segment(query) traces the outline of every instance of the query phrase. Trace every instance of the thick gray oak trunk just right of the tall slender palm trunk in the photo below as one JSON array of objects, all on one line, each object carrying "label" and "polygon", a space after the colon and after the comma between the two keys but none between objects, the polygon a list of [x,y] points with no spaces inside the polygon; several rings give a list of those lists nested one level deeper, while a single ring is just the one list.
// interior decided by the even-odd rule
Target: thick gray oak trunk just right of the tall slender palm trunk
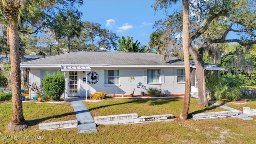
[{"label": "thick gray oak trunk just right of the tall slender palm trunk", "polygon": [[198,90],[198,104],[201,106],[208,106],[208,99],[206,96],[205,87],[205,75],[204,75],[204,60],[202,59],[203,53],[196,52],[192,47],[190,47],[190,53],[196,62],[196,80],[197,80],[197,90]]}]

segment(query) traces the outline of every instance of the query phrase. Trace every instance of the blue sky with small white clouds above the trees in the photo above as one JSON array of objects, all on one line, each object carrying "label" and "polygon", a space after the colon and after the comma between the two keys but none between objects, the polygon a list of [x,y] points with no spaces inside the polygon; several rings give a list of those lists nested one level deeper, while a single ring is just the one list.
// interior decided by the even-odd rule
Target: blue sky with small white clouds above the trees
[{"label": "blue sky with small white clouds above the trees", "polygon": [[[155,0],[84,0],[78,8],[82,13],[82,21],[101,24],[116,33],[119,37],[133,37],[142,45],[148,45],[150,34],[154,32],[152,25],[156,20],[165,17],[163,11],[154,14],[151,5]],[[179,6],[178,4],[176,6]],[[181,5],[180,5],[181,6]]]}]

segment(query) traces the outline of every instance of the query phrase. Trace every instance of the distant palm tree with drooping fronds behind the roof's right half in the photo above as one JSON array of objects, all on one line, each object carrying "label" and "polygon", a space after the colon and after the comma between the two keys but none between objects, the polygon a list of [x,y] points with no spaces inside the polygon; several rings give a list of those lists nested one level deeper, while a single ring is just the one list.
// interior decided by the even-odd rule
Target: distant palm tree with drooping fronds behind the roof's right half
[{"label": "distant palm tree with drooping fronds behind the roof's right half", "polygon": [[160,54],[160,46],[161,46],[160,38],[161,38],[161,35],[162,35],[162,32],[160,32],[160,31],[153,32],[150,35],[150,41],[149,41],[149,44],[148,44],[148,46],[150,46],[151,48],[156,49],[157,54]]}]

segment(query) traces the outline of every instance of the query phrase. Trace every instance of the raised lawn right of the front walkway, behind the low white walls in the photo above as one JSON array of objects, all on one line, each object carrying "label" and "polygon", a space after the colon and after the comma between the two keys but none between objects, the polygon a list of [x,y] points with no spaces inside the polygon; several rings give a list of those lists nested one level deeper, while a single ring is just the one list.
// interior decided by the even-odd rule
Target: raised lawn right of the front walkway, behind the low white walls
[{"label": "raised lawn right of the front walkway, behind the low white walls", "polygon": [[[198,100],[191,98],[189,114],[202,112],[224,111],[218,106],[210,105],[208,108],[198,106]],[[173,114],[179,117],[182,108],[183,98],[164,99],[135,99],[135,98],[114,98],[101,102],[84,102],[86,108],[94,117],[115,114],[137,113],[138,116],[150,116],[158,114]]]}]

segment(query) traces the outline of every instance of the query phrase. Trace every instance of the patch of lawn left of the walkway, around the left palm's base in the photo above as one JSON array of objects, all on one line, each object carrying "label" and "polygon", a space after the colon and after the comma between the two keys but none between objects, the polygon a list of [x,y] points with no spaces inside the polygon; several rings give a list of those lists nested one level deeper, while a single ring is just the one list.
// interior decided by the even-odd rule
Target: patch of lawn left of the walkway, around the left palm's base
[{"label": "patch of lawn left of the walkway, around the left palm's base", "polygon": [[[23,115],[33,129],[38,129],[39,123],[76,120],[76,114],[70,102],[63,104],[48,104],[24,102]],[[12,103],[0,102],[0,131],[10,123],[12,116]]]}]

